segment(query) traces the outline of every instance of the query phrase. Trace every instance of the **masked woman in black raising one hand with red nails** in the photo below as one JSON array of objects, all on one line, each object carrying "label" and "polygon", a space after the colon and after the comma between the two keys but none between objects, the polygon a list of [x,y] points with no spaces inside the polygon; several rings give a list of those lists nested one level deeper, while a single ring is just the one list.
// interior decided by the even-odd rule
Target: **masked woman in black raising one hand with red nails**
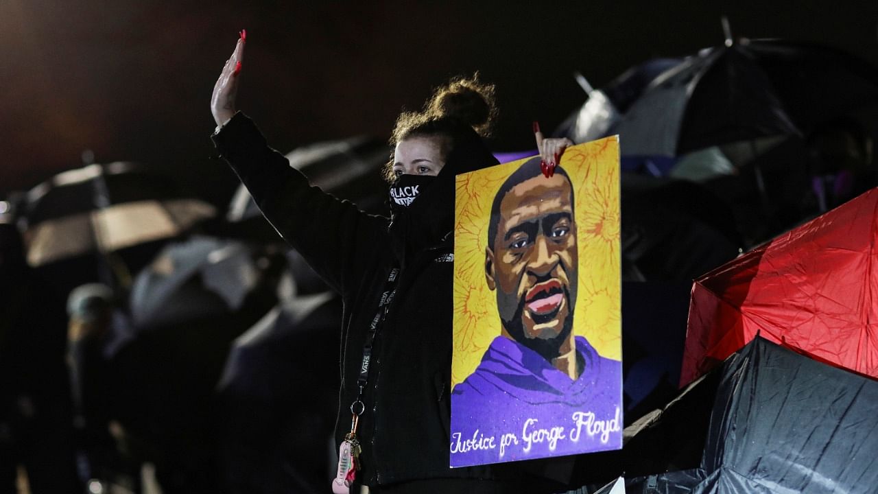
[{"label": "masked woman in black raising one hand with red nails", "polygon": [[[242,32],[213,89],[213,139],[280,235],[342,294],[335,490],[346,473],[372,492],[558,490],[520,465],[448,466],[454,177],[497,163],[477,132],[493,117],[493,88],[453,81],[399,116],[388,223],[311,187],[235,113],[244,44]],[[547,164],[568,143],[545,140]]]}]

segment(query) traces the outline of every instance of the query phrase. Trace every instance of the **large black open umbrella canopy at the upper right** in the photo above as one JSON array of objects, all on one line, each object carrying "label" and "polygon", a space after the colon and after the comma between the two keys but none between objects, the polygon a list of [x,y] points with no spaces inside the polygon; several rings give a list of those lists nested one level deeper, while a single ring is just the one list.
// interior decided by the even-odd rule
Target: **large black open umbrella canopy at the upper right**
[{"label": "large black open umbrella canopy at the upper right", "polygon": [[878,70],[831,47],[740,40],[661,73],[609,129],[625,155],[680,156],[778,135],[878,101]]}]

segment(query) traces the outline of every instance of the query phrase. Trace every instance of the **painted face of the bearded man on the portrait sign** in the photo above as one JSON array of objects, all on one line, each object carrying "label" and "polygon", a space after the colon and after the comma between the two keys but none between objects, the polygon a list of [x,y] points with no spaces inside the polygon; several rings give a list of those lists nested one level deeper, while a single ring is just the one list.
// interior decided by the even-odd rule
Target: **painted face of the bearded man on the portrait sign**
[{"label": "painted face of the bearded man on the portrait sign", "polygon": [[[493,219],[492,219],[493,221]],[[578,255],[572,185],[562,174],[515,185],[500,202],[488,287],[507,333],[547,358],[572,331]]]}]

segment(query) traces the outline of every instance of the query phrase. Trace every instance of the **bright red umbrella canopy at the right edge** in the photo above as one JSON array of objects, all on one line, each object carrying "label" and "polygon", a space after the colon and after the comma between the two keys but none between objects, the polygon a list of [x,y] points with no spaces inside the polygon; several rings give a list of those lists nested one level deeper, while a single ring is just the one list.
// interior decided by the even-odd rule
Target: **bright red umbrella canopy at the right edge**
[{"label": "bright red umbrella canopy at the right edge", "polygon": [[680,384],[757,334],[878,377],[878,188],[695,280]]}]

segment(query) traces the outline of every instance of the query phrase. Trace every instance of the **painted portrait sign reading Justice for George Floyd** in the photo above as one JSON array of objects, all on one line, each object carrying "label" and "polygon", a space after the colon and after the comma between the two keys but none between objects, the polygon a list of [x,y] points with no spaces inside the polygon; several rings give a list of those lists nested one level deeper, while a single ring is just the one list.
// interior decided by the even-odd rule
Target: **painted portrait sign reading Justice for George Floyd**
[{"label": "painted portrait sign reading Justice for George Floyd", "polygon": [[619,141],[457,176],[450,466],[622,447]]}]

